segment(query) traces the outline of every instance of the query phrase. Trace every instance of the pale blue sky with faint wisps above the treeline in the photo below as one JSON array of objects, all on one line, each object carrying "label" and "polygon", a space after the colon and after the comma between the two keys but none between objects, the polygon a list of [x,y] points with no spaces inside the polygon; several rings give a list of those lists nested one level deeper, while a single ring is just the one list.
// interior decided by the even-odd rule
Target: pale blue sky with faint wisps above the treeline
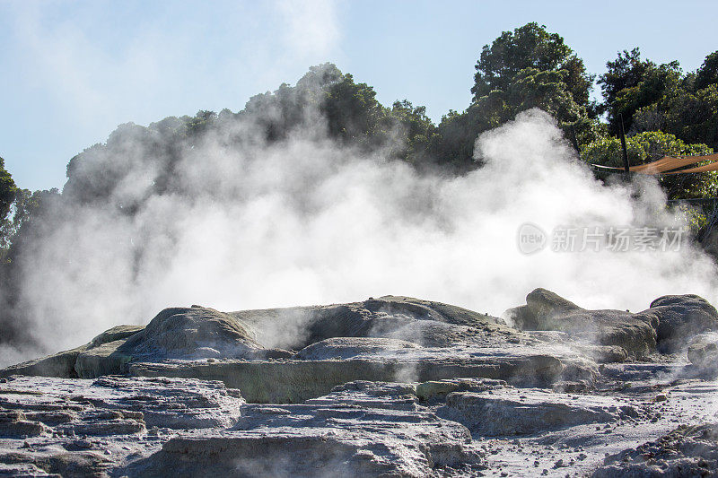
[{"label": "pale blue sky with faint wisps above the treeline", "polygon": [[67,161],[118,124],[236,111],[326,61],[439,120],[468,106],[481,48],[526,22],[592,73],[636,46],[695,70],[718,49],[716,16],[714,0],[0,0],[0,156],[19,186],[62,187]]}]

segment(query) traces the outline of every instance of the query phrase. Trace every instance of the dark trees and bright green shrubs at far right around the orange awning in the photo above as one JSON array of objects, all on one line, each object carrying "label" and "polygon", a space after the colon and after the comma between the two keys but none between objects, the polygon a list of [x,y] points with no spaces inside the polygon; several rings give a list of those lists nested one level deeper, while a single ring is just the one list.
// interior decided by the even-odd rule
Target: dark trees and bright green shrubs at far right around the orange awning
[{"label": "dark trees and bright green shrubs at far right around the orange awning", "polygon": [[[618,53],[606,67],[598,83],[604,99],[601,109],[613,136],[584,144],[584,161],[621,166],[621,122],[632,165],[663,155],[704,155],[718,148],[718,52],[706,56],[696,72],[684,73],[678,62],[657,65],[643,59],[638,48]],[[671,198],[718,196],[714,172],[659,179]]]}]

